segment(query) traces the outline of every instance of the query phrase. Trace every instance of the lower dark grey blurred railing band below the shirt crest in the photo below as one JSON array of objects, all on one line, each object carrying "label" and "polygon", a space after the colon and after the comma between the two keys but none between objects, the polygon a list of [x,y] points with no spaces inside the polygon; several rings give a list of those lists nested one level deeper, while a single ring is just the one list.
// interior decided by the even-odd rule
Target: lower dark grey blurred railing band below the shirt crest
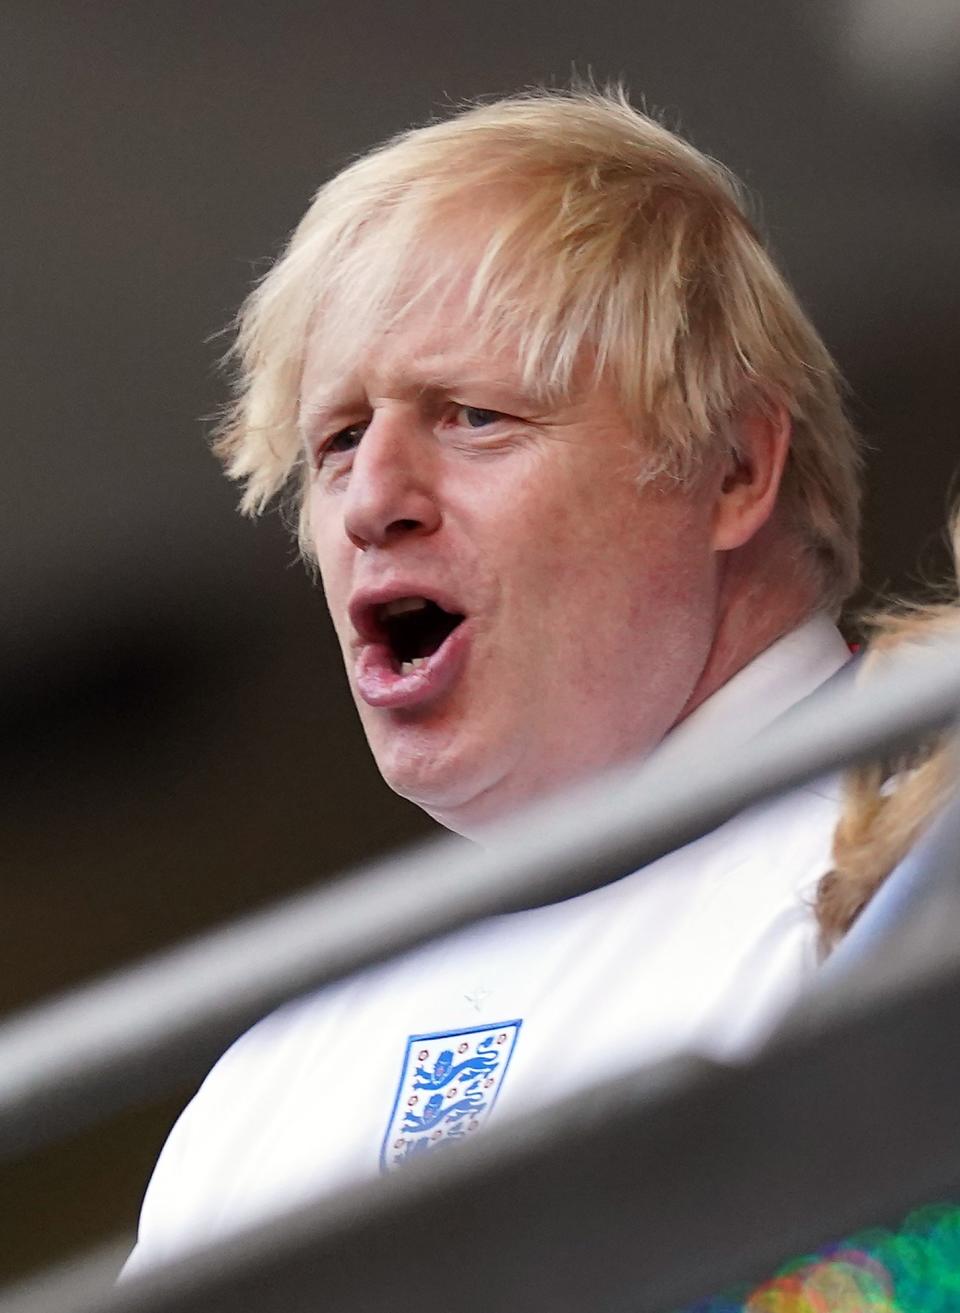
[{"label": "lower dark grey blurred railing band below the shirt crest", "polygon": [[746,1066],[666,1062],[100,1297],[47,1288],[4,1313],[670,1313],[960,1200],[946,911],[932,943],[810,998]]}]

